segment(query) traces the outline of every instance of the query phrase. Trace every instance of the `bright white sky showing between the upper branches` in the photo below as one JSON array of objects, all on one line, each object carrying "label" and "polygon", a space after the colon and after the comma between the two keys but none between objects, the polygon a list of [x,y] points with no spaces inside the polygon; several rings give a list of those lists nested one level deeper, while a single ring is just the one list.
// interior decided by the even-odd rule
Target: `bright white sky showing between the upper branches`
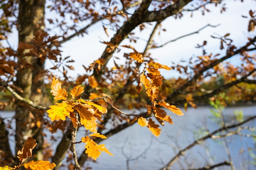
[{"label": "bright white sky showing between the upper branches", "polygon": [[[175,42],[172,42],[163,48],[153,49],[150,51],[151,57],[157,59],[157,62],[160,64],[165,64],[168,66],[172,65],[172,62],[179,62],[180,60],[188,60],[192,56],[202,55],[202,49],[196,49],[195,46],[197,44],[202,44],[204,40],[207,40],[207,46],[205,47],[208,53],[225,53],[225,50],[220,51],[220,41],[211,38],[211,35],[214,33],[218,33],[219,35],[225,35],[226,33],[230,33],[229,38],[234,40],[234,44],[236,46],[243,46],[246,42],[246,37],[249,36],[247,31],[247,26],[249,19],[242,18],[241,15],[249,16],[249,9],[255,11],[256,9],[256,1],[255,0],[245,0],[245,2],[240,2],[238,0],[226,0],[227,3],[227,11],[224,13],[220,13],[219,7],[213,7],[213,5],[209,5],[209,9],[211,12],[205,13],[202,15],[200,11],[194,12],[193,17],[190,17],[191,13],[187,13],[184,15],[182,19],[175,20],[173,17],[168,18],[162,23],[162,29],[166,29],[166,32],[161,32],[160,35],[156,35],[155,42],[162,44],[169,40],[173,40],[179,36],[182,36],[187,33],[191,33],[197,31],[207,24],[220,26],[216,28],[207,27],[204,30],[200,31],[199,34],[194,34],[186,38],[182,38]],[[190,6],[188,6],[190,7]],[[154,25],[154,24],[153,24]],[[139,32],[137,29],[135,32]],[[88,34],[85,34],[84,37],[76,37],[72,40],[63,43],[61,50],[63,51],[63,58],[66,56],[71,56],[74,59],[75,63],[70,63],[75,67],[75,71],[69,71],[68,75],[72,77],[76,77],[77,74],[85,73],[85,70],[82,66],[88,66],[94,60],[97,60],[104,49],[106,48],[106,44],[101,43],[102,41],[108,42],[111,38],[111,35],[114,34],[113,31],[108,30],[110,33],[110,37],[107,37],[103,31],[103,27],[101,23],[98,23],[92,26],[88,30]],[[146,31],[139,33],[141,40],[138,40],[136,44],[132,44],[135,49],[139,52],[144,51],[144,47],[146,42],[144,40],[148,39],[150,34],[150,29],[146,29]],[[256,31],[251,33],[251,35],[255,35]],[[14,33],[14,35],[17,35]],[[138,36],[135,35],[135,36]],[[101,41],[101,42],[100,42]],[[9,39],[9,42],[12,46],[17,46],[17,39],[13,38]],[[128,41],[122,42],[121,45],[128,44]],[[120,48],[120,53],[115,53],[114,56],[119,57],[121,60],[115,60],[119,64],[124,63],[123,55],[125,53],[132,52],[131,50]],[[46,68],[51,68],[53,65],[50,62],[46,62]],[[113,66],[112,63],[109,66]],[[177,77],[178,74],[173,71],[162,71],[164,77],[171,78]],[[56,73],[59,75],[58,73]]]}]

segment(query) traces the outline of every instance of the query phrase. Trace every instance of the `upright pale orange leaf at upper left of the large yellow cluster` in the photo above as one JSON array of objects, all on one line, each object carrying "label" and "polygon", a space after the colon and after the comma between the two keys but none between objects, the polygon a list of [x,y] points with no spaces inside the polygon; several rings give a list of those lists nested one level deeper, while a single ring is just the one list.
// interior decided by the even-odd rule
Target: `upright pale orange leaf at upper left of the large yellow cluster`
[{"label": "upright pale orange leaf at upper left of the large yellow cluster", "polygon": [[55,100],[67,99],[67,91],[61,88],[61,83],[58,82],[58,79],[55,79],[54,77],[52,79],[51,88],[52,90],[50,92],[55,96]]}]

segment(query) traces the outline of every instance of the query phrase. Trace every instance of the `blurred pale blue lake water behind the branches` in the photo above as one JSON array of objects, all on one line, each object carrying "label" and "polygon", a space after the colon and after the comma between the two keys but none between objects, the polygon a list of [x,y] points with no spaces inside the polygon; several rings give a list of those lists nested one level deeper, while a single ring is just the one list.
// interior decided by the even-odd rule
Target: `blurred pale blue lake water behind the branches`
[{"label": "blurred pale blue lake water behind the branches", "polygon": [[[256,105],[227,107],[223,111],[227,123],[236,122],[235,110],[242,110],[244,119],[256,115]],[[132,111],[134,110],[124,110],[126,113],[132,113]],[[184,112],[184,110],[182,111]],[[141,127],[136,123],[102,142],[115,155],[114,157],[103,152],[97,162],[89,162],[85,165],[92,167],[92,170],[128,170],[127,167],[129,167],[129,170],[158,170],[178,153],[179,149],[191,144],[197,135],[202,133],[199,129],[205,127],[212,132],[219,128],[218,124],[210,118],[209,106],[199,106],[197,109],[188,108],[182,117],[168,110],[166,112],[173,119],[174,125],[165,123],[165,126],[160,126],[159,128],[162,131],[159,137],[153,136],[148,128]],[[1,117],[11,118],[14,113],[0,111],[0,115]],[[246,126],[251,127],[255,125],[256,119],[246,124]],[[248,130],[242,130],[242,132],[249,133]],[[48,134],[50,135],[50,133]],[[77,141],[84,134],[85,130],[80,130]],[[54,136],[57,135],[58,133]],[[10,140],[12,146],[13,140],[13,138]],[[248,148],[251,148],[256,154],[256,141],[253,141],[250,137],[233,135],[227,137],[227,142],[236,170],[256,169],[256,166],[249,163],[253,159],[248,153]],[[56,146],[56,144],[54,142],[53,146]],[[84,149],[84,144],[77,144],[76,149],[81,153]],[[184,157],[180,157],[174,163],[171,169],[201,168],[207,165],[206,162],[216,164],[225,160],[229,161],[223,141],[221,139],[215,141],[207,139],[202,144],[188,150]],[[217,169],[228,170],[230,168],[229,166],[222,166]]]}]

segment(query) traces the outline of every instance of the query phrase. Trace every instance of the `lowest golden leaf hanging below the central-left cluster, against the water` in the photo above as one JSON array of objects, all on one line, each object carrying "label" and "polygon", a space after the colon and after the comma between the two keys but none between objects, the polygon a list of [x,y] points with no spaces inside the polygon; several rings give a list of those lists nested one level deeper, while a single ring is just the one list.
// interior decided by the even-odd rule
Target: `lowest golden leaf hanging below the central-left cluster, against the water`
[{"label": "lowest golden leaf hanging below the central-left cluster, against the water", "polygon": [[101,152],[106,152],[109,155],[114,156],[111,152],[108,151],[107,148],[105,148],[105,145],[98,145],[88,136],[82,137],[81,140],[83,141],[83,143],[85,143],[85,153],[88,154],[88,157],[91,157],[94,160],[96,160],[99,157],[99,155],[101,155]]}]

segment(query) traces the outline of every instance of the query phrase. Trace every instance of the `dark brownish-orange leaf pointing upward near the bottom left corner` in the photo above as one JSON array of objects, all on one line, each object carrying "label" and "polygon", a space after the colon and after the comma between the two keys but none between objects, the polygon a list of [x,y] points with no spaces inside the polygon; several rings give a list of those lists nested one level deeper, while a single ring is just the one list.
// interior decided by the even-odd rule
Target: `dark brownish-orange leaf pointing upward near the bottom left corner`
[{"label": "dark brownish-orange leaf pointing upward near the bottom left corner", "polygon": [[33,137],[28,137],[27,141],[24,143],[24,147],[22,150],[18,151],[18,159],[20,160],[21,163],[23,163],[27,157],[32,156],[32,149],[35,148],[36,146],[36,139],[33,139]]}]

